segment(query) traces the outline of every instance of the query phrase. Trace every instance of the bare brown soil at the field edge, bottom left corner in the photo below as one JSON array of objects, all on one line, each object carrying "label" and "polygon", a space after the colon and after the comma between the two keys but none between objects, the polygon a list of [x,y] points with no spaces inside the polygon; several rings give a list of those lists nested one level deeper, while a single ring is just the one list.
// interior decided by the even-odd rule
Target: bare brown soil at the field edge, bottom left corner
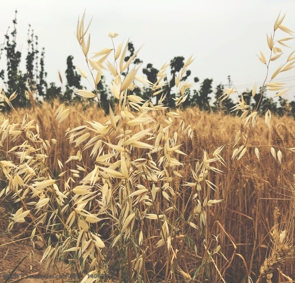
[{"label": "bare brown soil at the field edge, bottom left corner", "polygon": [[[10,206],[10,207],[9,207]],[[41,275],[59,275],[58,271],[45,271],[45,263],[39,262],[42,259],[45,249],[42,246],[35,245],[35,249],[30,245],[30,234],[32,229],[27,223],[16,223],[13,229],[7,233],[6,229],[10,222],[9,217],[11,213],[15,213],[17,209],[12,210],[6,199],[0,198],[0,282],[21,282],[21,283],[39,283],[62,282],[61,279],[55,278],[27,278],[27,275],[41,276]],[[33,251],[34,257],[30,259],[30,253]],[[23,260],[23,261],[22,261]],[[65,275],[64,282],[80,282],[71,279],[70,267],[66,268],[66,264],[57,264],[61,275]],[[14,270],[15,269],[15,270]],[[12,278],[9,278],[9,273],[12,273]],[[21,275],[23,274],[23,276]],[[81,274],[83,278],[85,274]],[[17,278],[18,277],[18,278]],[[22,278],[21,278],[22,277]],[[73,276],[72,276],[73,277]],[[76,275],[77,277],[77,275]],[[7,280],[8,279],[8,280]],[[7,280],[7,281],[6,281]]]}]

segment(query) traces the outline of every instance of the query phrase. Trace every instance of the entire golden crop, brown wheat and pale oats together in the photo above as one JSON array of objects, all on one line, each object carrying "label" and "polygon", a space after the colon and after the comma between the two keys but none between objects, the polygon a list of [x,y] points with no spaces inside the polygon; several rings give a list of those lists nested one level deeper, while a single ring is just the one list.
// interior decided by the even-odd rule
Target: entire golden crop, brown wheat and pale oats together
[{"label": "entire golden crop, brown wheat and pale oats together", "polygon": [[[84,17],[76,36],[88,60]],[[288,32],[282,21],[274,31]],[[242,95],[236,116],[184,110],[191,86],[181,79],[192,57],[175,78],[176,109],[145,102],[129,95],[134,81],[158,92],[169,64],[155,83],[136,68],[122,81],[134,59],[124,62],[126,48],[122,42],[89,60],[97,85],[114,54],[107,68],[117,104],[109,115],[58,100],[39,107],[30,92],[31,109],[0,117],[0,195],[13,211],[5,236],[38,245],[47,273],[81,275],[55,282],[294,282],[294,119],[251,111]],[[288,60],[266,84],[279,93],[272,80],[295,57]]]}]

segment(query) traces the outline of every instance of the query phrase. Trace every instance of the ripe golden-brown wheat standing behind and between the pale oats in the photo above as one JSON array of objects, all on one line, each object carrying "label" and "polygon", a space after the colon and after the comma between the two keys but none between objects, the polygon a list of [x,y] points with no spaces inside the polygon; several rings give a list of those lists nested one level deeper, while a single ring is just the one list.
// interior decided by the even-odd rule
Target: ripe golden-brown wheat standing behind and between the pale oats
[{"label": "ripe golden-brown wheat standing behind and between the pale oats", "polygon": [[[48,157],[46,159],[43,158],[44,162],[45,160],[46,162],[43,164],[41,158],[39,161],[43,164],[42,170],[45,171],[46,168],[46,171],[51,172],[53,176],[60,175],[56,177],[58,180],[56,183],[60,188],[60,192],[63,192],[63,194],[68,196],[71,196],[71,194],[74,196],[73,189],[75,187],[77,188],[78,184],[83,183],[83,179],[85,180],[85,177],[87,176],[87,171],[82,171],[80,168],[85,166],[87,170],[91,172],[91,170],[94,170],[95,168],[95,158],[90,157],[90,148],[84,151],[85,158],[81,160],[70,160],[66,163],[69,160],[69,156],[78,156],[78,151],[81,150],[82,152],[83,146],[85,146],[85,142],[84,145],[80,145],[80,147],[75,147],[75,143],[69,146],[68,136],[65,135],[66,131],[82,125],[85,120],[94,120],[100,123],[105,123],[107,122],[106,120],[109,120],[109,117],[101,115],[98,108],[92,108],[86,113],[83,113],[78,107],[76,111],[71,109],[71,112],[64,123],[58,124],[57,121],[52,119],[58,106],[58,102],[55,102],[53,108],[49,104],[45,104],[42,109],[36,107],[35,113],[28,115],[27,120],[30,121],[35,119],[35,122],[32,123],[32,125],[36,125],[36,123],[39,125],[39,139],[47,137],[48,141],[50,141],[48,142],[50,146],[47,145],[46,151]],[[25,111],[18,112],[18,115],[19,117],[23,117],[26,113]],[[19,119],[18,115],[11,115],[9,119],[15,124],[21,124],[22,119]],[[156,125],[160,121],[163,121],[164,117],[164,113],[158,113],[158,115],[155,115],[153,119],[155,120]],[[288,150],[282,151],[282,164],[278,164],[278,161],[271,155],[270,146],[267,145],[270,144],[274,147],[280,146],[283,148],[291,148],[295,140],[293,135],[295,122],[290,118],[274,118],[272,132],[270,133],[268,128],[265,127],[264,119],[258,118],[256,130],[254,130],[252,135],[253,138],[249,140],[249,151],[237,167],[237,172],[232,185],[228,187],[237,166],[237,162],[232,160],[232,148],[234,145],[234,138],[232,137],[239,129],[244,130],[244,123],[239,120],[239,117],[229,117],[221,114],[206,114],[198,111],[198,109],[188,109],[181,113],[181,117],[185,123],[191,121],[193,137],[192,139],[185,137],[179,137],[178,139],[178,144],[181,145],[179,150],[185,152],[187,156],[180,156],[179,154],[176,157],[180,162],[183,162],[186,165],[178,170],[178,173],[183,176],[183,178],[176,175],[178,178],[173,180],[171,186],[171,189],[176,193],[173,200],[173,206],[176,208],[176,211],[178,211],[177,218],[179,218],[176,219],[177,221],[175,220],[177,223],[176,225],[179,228],[176,231],[173,231],[171,242],[173,243],[173,241],[175,241],[175,249],[178,249],[178,252],[181,251],[182,245],[186,243],[182,248],[182,255],[179,258],[177,265],[179,268],[179,271],[176,270],[177,281],[185,282],[186,276],[187,278],[191,276],[190,274],[192,270],[200,265],[200,262],[202,261],[202,253],[204,253],[204,248],[207,247],[208,244],[210,244],[209,251],[214,251],[214,249],[220,245],[220,247],[222,247],[222,254],[224,255],[223,257],[219,254],[213,254],[212,260],[204,265],[203,272],[207,273],[208,276],[210,275],[208,278],[209,281],[212,280],[212,282],[214,282],[216,278],[219,277],[219,273],[223,273],[223,270],[225,270],[227,264],[229,264],[231,260],[232,263],[224,274],[224,280],[226,282],[232,282],[236,279],[241,280],[246,277],[251,262],[252,272],[254,274],[259,274],[261,263],[263,263],[266,256],[272,251],[271,233],[276,231],[275,229],[283,229],[280,227],[284,227],[285,229],[285,225],[292,228],[290,223],[293,221],[292,219],[286,219],[286,217],[291,215],[292,203],[294,203],[294,176],[291,173],[294,172],[295,169],[294,153]],[[179,119],[180,118],[178,118],[178,120]],[[173,131],[176,131],[178,128],[177,120],[174,127],[175,129],[173,129]],[[23,136],[23,138],[25,137]],[[91,136],[89,138],[91,138]],[[107,141],[113,142],[112,138],[116,138],[116,134],[108,136]],[[52,139],[55,139],[56,141],[52,142]],[[11,144],[12,143],[8,141],[3,144],[6,152],[11,149]],[[22,143],[19,144],[21,145]],[[251,148],[250,146],[251,144],[261,148],[260,160],[257,159],[254,153],[254,148]],[[214,171],[208,173],[208,180],[211,180],[211,182],[219,187],[219,189],[215,188],[214,191],[210,188],[210,184],[208,185],[205,183],[202,184],[201,191],[198,195],[201,203],[200,209],[203,211],[203,203],[206,200],[224,199],[223,205],[220,206],[219,203],[210,206],[206,211],[206,226],[203,224],[201,227],[195,229],[194,226],[191,227],[186,224],[184,219],[189,219],[190,215],[192,215],[196,209],[194,195],[198,191],[196,187],[188,188],[183,185],[185,185],[186,182],[194,182],[191,169],[195,168],[197,162],[202,162],[204,158],[204,150],[206,150],[209,157],[216,148],[223,145],[225,146],[222,150],[222,158],[224,159],[224,164],[226,166],[218,161],[214,161],[211,166],[216,166],[217,169],[224,173],[219,174]],[[105,152],[105,155],[106,154],[110,153]],[[138,150],[137,154],[138,158],[143,158],[144,150]],[[15,164],[19,163],[19,157],[15,154],[8,153],[8,155],[11,162]],[[153,159],[157,160],[157,158],[158,157],[155,156]],[[4,156],[2,156],[2,159],[4,159]],[[106,159],[109,159],[109,156],[106,156]],[[103,164],[104,161],[101,162]],[[65,166],[71,168],[72,171],[60,168],[60,163],[65,164]],[[33,166],[32,169],[36,171],[37,167],[35,168]],[[65,173],[61,174],[64,171]],[[32,180],[34,180],[34,177]],[[165,185],[165,181],[161,182]],[[146,186],[144,182],[136,183],[136,185],[140,186],[140,189]],[[119,188],[120,187],[117,187],[118,191],[113,192],[111,198],[114,198],[114,200],[120,197],[120,193],[124,195],[124,192],[120,192]],[[138,191],[138,188],[135,188],[133,193],[136,191]],[[30,192],[30,194],[31,193],[32,192]],[[50,202],[48,202],[47,205],[54,205],[54,203],[51,203],[53,197],[56,198],[56,201],[58,200],[58,196],[54,196],[53,193],[54,192],[49,189],[46,191],[44,189],[42,190],[44,196],[50,196]],[[84,197],[86,195],[87,198],[92,198],[91,193],[89,194],[90,196],[81,192],[81,195],[77,194],[77,196],[81,198],[81,196]],[[83,209],[89,212],[91,211],[96,215],[99,212],[98,204],[102,201],[101,195],[102,188],[96,191],[95,198],[92,198],[94,201],[90,204],[88,203]],[[148,202],[148,199],[145,199],[145,195],[142,195],[142,193],[134,195],[135,203],[138,204],[142,202],[142,204],[138,205],[140,214],[148,214],[149,205],[144,204],[144,202]],[[123,196],[121,195],[121,197],[123,201]],[[33,200],[38,201],[37,196],[34,196],[34,198],[31,199],[31,196],[29,195],[27,198],[28,200],[24,198],[24,203],[29,202],[29,199],[30,202]],[[140,201],[141,198],[142,201]],[[173,219],[174,211],[169,209],[169,207],[171,207],[171,201],[171,199],[166,199],[162,194],[158,194],[157,198],[155,198],[157,209],[165,212],[165,216],[168,219]],[[70,207],[71,203],[68,204],[68,207]],[[34,204],[30,204],[30,206],[32,205]],[[56,209],[59,208],[58,202],[55,206]],[[214,220],[217,217],[220,207],[221,212],[218,218],[218,225],[212,230]],[[115,208],[116,205],[114,205],[113,209]],[[109,268],[112,272],[118,272],[115,263],[116,257],[112,258],[112,255],[116,255],[120,252],[115,248],[109,248],[112,242],[112,237],[116,235],[115,227],[112,226],[114,225],[113,222],[118,220],[115,219],[116,216],[119,217],[122,214],[122,208],[120,209],[120,207],[117,206],[116,209],[117,214],[114,215],[113,219],[110,218],[107,221],[99,221],[94,226],[94,229],[97,229],[98,234],[101,235],[101,240],[104,241],[106,247],[108,247],[108,256],[106,256],[106,259],[109,261]],[[146,209],[148,210],[146,211]],[[59,221],[63,220],[64,223],[67,222],[68,216],[70,215],[70,209],[68,210],[69,211],[64,210],[64,212],[60,214],[59,218],[61,219]],[[40,215],[44,217],[44,211],[39,211]],[[45,211],[47,211],[47,209]],[[51,215],[48,215],[47,217],[49,218],[50,216]],[[107,216],[108,214],[103,212],[100,217],[106,218]],[[175,217],[176,216],[174,216],[174,218]],[[198,213],[196,213],[196,215],[190,220],[190,223],[195,223],[196,226],[199,226],[197,224],[199,222]],[[276,221],[280,224],[278,228],[275,226]],[[287,224],[288,221],[289,224]],[[55,222],[58,221],[55,220]],[[51,224],[54,224],[55,222],[52,221]],[[163,268],[163,261],[165,261],[165,251],[163,251],[163,246],[160,246],[157,249],[154,248],[161,239],[160,235],[157,236],[157,234],[159,234],[159,226],[155,223],[154,219],[149,218],[138,219],[136,222],[137,229],[135,230],[142,231],[142,244],[138,246],[138,249],[146,250],[145,270],[147,276],[151,279],[154,277],[154,280],[155,278],[164,278],[165,269]],[[46,223],[48,224],[49,222],[44,221],[43,225],[45,227]],[[92,225],[94,224],[91,224],[90,226]],[[173,229],[169,226],[168,228]],[[217,239],[213,239],[212,241],[212,238],[208,235],[209,232],[207,229],[209,229],[209,231],[215,236],[218,236]],[[63,235],[63,230],[56,229],[56,231],[50,234],[50,236],[54,236],[55,233],[60,236],[62,235],[62,238],[60,239],[62,242],[66,240],[65,235]],[[293,233],[294,228],[290,230],[290,239],[293,239]],[[139,237],[138,231],[136,236],[137,238]],[[138,239],[136,240],[138,241]],[[57,240],[55,239],[55,241]],[[48,242],[48,239],[46,239],[46,242]],[[124,245],[126,244],[121,243],[118,246],[124,247]],[[253,251],[254,245],[255,248]],[[102,249],[102,251],[104,251],[104,249]],[[126,250],[124,252],[126,252]],[[133,253],[134,251],[132,251],[134,257],[135,255]],[[234,257],[232,258],[233,255]],[[215,265],[218,269],[215,268]],[[294,261],[291,257],[289,262],[287,260],[286,266],[284,266],[284,272],[290,276],[295,275]],[[214,279],[214,277],[216,278]]]}]

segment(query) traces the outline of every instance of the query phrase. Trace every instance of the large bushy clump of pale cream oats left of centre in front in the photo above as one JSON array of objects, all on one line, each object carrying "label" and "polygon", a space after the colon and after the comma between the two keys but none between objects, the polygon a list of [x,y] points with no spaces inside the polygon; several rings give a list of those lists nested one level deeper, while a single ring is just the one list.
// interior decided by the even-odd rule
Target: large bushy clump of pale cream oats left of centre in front
[{"label": "large bushy clump of pale cream oats left of centre in front", "polygon": [[[46,261],[49,270],[58,261],[67,259],[73,272],[86,274],[82,283],[110,282],[114,273],[120,282],[148,282],[151,275],[146,262],[153,253],[159,253],[164,259],[161,274],[165,282],[192,282],[200,269],[212,260],[212,254],[219,252],[220,246],[209,252],[209,257],[192,273],[193,277],[191,272],[183,271],[185,264],[179,259],[186,247],[193,249],[197,257],[196,245],[188,233],[198,229],[204,233],[207,208],[221,201],[202,199],[200,192],[205,184],[213,190],[217,188],[209,181],[208,174],[210,171],[222,173],[213,164],[225,164],[219,155],[221,146],[211,155],[204,150],[201,162],[191,168],[190,176],[181,174],[185,162],[179,160],[186,153],[180,150],[179,140],[193,137],[191,125],[186,125],[181,117],[180,106],[188,96],[185,91],[192,86],[184,82],[183,75],[194,59],[189,57],[175,77],[179,95],[178,109],[173,112],[161,104],[165,99],[163,78],[170,64],[161,67],[154,83],[137,75],[140,66],[130,70],[123,80],[122,73],[139,50],[125,62],[129,41],[125,44],[122,41],[115,48],[118,34],[111,32],[112,47],[89,58],[90,34],[86,40],[86,33],[90,23],[84,29],[84,18],[85,13],[81,21],[78,20],[76,37],[91,73],[94,91],[74,90],[74,93],[89,99],[96,97],[99,101],[96,86],[102,73],[107,71],[113,76],[108,85],[117,107],[115,110],[110,107],[109,118],[103,123],[85,120],[84,125],[67,130],[69,143],[75,144],[76,152],[65,164],[58,160],[58,166],[65,170],[67,164],[72,164],[74,168],[68,166],[58,175],[59,179],[53,178],[46,163],[46,153],[57,140],[43,139],[39,125],[33,125],[34,120],[28,121],[27,114],[22,124],[1,118],[1,143],[6,143],[6,151],[18,160],[1,161],[9,181],[1,195],[12,193],[12,198],[22,204],[12,215],[8,231],[14,223],[25,222],[25,218],[30,217],[32,246],[37,239],[46,248],[41,262]],[[79,67],[78,70],[87,79],[86,72]],[[161,94],[160,105],[153,105],[151,97],[143,101],[130,94],[136,82],[148,85],[151,97]],[[10,101],[15,97],[8,98],[4,92],[2,95],[12,107]],[[62,104],[54,117],[61,123],[70,111]],[[157,112],[165,116],[160,122],[155,119]],[[87,149],[91,149],[91,153],[84,157]],[[89,158],[92,158],[91,164],[85,164],[84,160]],[[64,179],[66,172],[71,175]],[[176,204],[183,192],[181,183],[192,191],[193,209],[188,216],[181,213]],[[108,229],[103,230],[106,226]],[[157,231],[154,235],[150,234],[151,226]],[[101,231],[104,234],[100,234]],[[49,237],[45,237],[46,234]],[[117,254],[115,259],[114,254]]]}]

